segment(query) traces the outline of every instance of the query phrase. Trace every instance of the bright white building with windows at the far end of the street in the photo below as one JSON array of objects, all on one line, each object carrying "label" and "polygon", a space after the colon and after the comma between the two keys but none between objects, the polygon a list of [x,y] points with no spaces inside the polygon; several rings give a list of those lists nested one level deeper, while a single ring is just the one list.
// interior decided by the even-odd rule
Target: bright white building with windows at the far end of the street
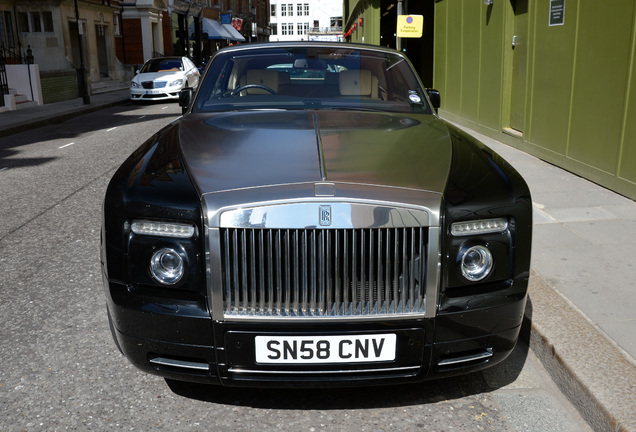
[{"label": "bright white building with windows at the far end of the street", "polygon": [[342,0],[270,0],[271,42],[341,41]]}]

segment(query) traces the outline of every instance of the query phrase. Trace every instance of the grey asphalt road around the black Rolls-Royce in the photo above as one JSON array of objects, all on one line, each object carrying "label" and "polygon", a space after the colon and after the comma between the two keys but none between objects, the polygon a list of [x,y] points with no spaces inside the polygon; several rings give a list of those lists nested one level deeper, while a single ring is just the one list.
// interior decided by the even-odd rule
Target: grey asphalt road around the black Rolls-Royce
[{"label": "grey asphalt road around the black Rolls-Royce", "polygon": [[370,389],[184,385],[130,366],[105,314],[101,200],[178,113],[127,105],[0,139],[0,430],[589,430],[523,344],[483,373]]}]

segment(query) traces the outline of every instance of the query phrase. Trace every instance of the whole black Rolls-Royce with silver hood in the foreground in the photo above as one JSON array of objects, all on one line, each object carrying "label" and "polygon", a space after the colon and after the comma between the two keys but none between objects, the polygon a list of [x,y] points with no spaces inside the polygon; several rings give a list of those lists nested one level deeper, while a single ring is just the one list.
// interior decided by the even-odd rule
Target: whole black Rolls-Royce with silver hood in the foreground
[{"label": "whole black Rolls-Royce with silver hood in the foreground", "polygon": [[138,368],[228,386],[374,385],[512,351],[530,192],[436,115],[439,94],[403,54],[230,47],[180,103],[104,200],[108,317]]}]

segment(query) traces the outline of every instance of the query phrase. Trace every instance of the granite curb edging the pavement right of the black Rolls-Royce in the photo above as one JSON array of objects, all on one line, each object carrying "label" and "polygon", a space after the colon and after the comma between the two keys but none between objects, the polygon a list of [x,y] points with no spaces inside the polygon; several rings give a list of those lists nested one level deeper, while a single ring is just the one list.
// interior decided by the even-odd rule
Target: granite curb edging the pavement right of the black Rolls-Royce
[{"label": "granite curb edging the pavement right of the black Rolls-Royce", "polygon": [[521,336],[596,431],[636,432],[636,365],[532,270]]}]

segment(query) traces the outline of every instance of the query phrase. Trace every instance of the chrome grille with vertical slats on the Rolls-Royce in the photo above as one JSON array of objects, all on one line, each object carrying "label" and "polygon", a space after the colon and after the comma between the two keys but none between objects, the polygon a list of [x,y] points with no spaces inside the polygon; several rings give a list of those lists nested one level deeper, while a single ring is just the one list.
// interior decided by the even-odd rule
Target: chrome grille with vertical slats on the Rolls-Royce
[{"label": "chrome grille with vertical slats on the Rolls-Royce", "polygon": [[425,311],[428,228],[220,232],[226,317]]}]

